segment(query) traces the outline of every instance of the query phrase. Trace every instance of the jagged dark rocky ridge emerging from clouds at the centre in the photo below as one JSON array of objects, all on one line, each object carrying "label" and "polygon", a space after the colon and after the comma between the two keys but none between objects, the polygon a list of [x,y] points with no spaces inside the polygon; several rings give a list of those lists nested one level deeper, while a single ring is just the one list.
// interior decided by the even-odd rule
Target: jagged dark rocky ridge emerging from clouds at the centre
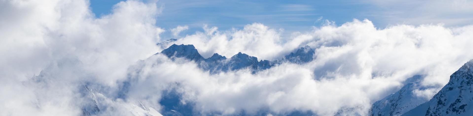
[{"label": "jagged dark rocky ridge emerging from clouds at the centre", "polygon": [[185,58],[199,64],[199,67],[210,73],[217,73],[220,71],[235,71],[244,68],[249,68],[251,71],[261,71],[269,69],[272,66],[282,62],[306,63],[314,59],[315,51],[309,46],[301,47],[296,53],[290,53],[284,56],[281,60],[268,61],[260,60],[248,54],[238,53],[230,58],[213,54],[210,58],[203,58],[193,45],[171,45],[169,48],[157,54],[164,54],[169,58]]}]

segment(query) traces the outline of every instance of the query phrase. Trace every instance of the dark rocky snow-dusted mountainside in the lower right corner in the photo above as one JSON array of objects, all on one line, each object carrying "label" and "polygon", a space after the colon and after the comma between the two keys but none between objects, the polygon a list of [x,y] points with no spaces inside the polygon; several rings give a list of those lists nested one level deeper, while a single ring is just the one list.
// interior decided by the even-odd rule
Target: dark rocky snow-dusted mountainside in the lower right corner
[{"label": "dark rocky snow-dusted mountainside in the lower right corner", "polygon": [[432,99],[403,116],[471,116],[473,114],[473,60],[466,62]]}]

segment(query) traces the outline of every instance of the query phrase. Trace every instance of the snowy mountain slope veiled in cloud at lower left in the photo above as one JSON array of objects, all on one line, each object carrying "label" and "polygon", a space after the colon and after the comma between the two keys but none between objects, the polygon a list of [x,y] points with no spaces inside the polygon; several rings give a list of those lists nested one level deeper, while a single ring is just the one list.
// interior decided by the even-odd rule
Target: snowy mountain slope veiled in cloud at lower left
[{"label": "snowy mountain slope veiled in cloud at lower left", "polygon": [[[78,115],[80,116],[163,116],[154,108],[147,107],[139,102],[116,100],[115,95],[103,93],[100,90],[104,89],[103,86],[93,81],[81,80],[78,83],[71,83],[62,80],[64,78],[85,79],[90,76],[87,73],[79,74],[86,72],[81,67],[83,67],[83,63],[77,58],[62,58],[52,62],[37,76],[24,81],[23,85],[35,87],[35,96],[41,98],[55,98],[57,96],[55,93],[73,93],[72,99],[76,102],[71,103],[71,105],[79,108],[80,112],[78,112]],[[64,87],[68,89],[63,89]],[[38,98],[34,103],[49,104],[49,101],[40,100],[41,98]],[[40,107],[38,105],[38,108],[48,107]]]}]

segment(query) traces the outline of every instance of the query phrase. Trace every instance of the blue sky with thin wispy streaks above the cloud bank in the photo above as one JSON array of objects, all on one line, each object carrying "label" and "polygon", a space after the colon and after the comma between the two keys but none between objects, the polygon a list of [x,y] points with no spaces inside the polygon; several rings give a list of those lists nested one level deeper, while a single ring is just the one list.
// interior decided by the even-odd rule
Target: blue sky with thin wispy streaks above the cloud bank
[{"label": "blue sky with thin wispy streaks above the cloud bank", "polygon": [[[109,14],[113,5],[123,0],[91,0],[92,11],[97,17]],[[459,1],[459,2],[456,2]],[[145,2],[156,2],[153,0]],[[169,29],[188,26],[180,35],[202,31],[203,24],[219,27],[220,30],[242,28],[254,22],[271,28],[283,28],[284,35],[304,32],[313,26],[319,27],[325,20],[336,25],[350,22],[354,18],[371,20],[377,28],[397,24],[438,24],[448,27],[471,24],[473,13],[468,8],[470,1],[431,2],[409,0],[159,0],[163,11],[157,18],[157,26]],[[439,11],[438,9],[441,9]]]}]

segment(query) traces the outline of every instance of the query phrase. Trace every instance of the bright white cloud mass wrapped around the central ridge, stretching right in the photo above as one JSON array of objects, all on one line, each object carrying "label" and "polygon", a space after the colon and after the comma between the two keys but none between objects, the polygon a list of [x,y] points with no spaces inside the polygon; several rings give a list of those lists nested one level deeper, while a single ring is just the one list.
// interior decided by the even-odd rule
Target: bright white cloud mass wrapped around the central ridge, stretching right
[{"label": "bright white cloud mass wrapped around the central ridge, stretching right", "polygon": [[[222,51],[216,53],[231,56],[235,53],[225,51],[237,49],[263,58],[278,58],[281,55],[277,54],[288,49],[310,45],[315,48],[317,59],[306,65],[283,64],[256,74],[236,71],[209,75],[196,64],[158,58],[146,64],[143,75],[138,76],[146,83],[138,84],[143,86],[138,88],[157,88],[148,86],[152,83],[159,83],[160,87],[180,83],[177,88],[184,99],[195,102],[196,108],[204,113],[254,113],[268,108],[274,113],[311,110],[330,116],[342,108],[366,115],[372,102],[394,92],[412,75],[428,74],[423,82],[426,86],[445,85],[450,74],[473,58],[468,53],[473,44],[468,38],[471,29],[472,26],[442,25],[377,29],[369,20],[354,20],[342,26],[327,25],[299,33],[284,43],[274,29],[257,23],[210,35],[196,33],[180,38],[177,43],[193,44],[203,54]],[[187,73],[180,73],[183,70]],[[435,90],[438,89],[416,93],[429,98]]]}]

